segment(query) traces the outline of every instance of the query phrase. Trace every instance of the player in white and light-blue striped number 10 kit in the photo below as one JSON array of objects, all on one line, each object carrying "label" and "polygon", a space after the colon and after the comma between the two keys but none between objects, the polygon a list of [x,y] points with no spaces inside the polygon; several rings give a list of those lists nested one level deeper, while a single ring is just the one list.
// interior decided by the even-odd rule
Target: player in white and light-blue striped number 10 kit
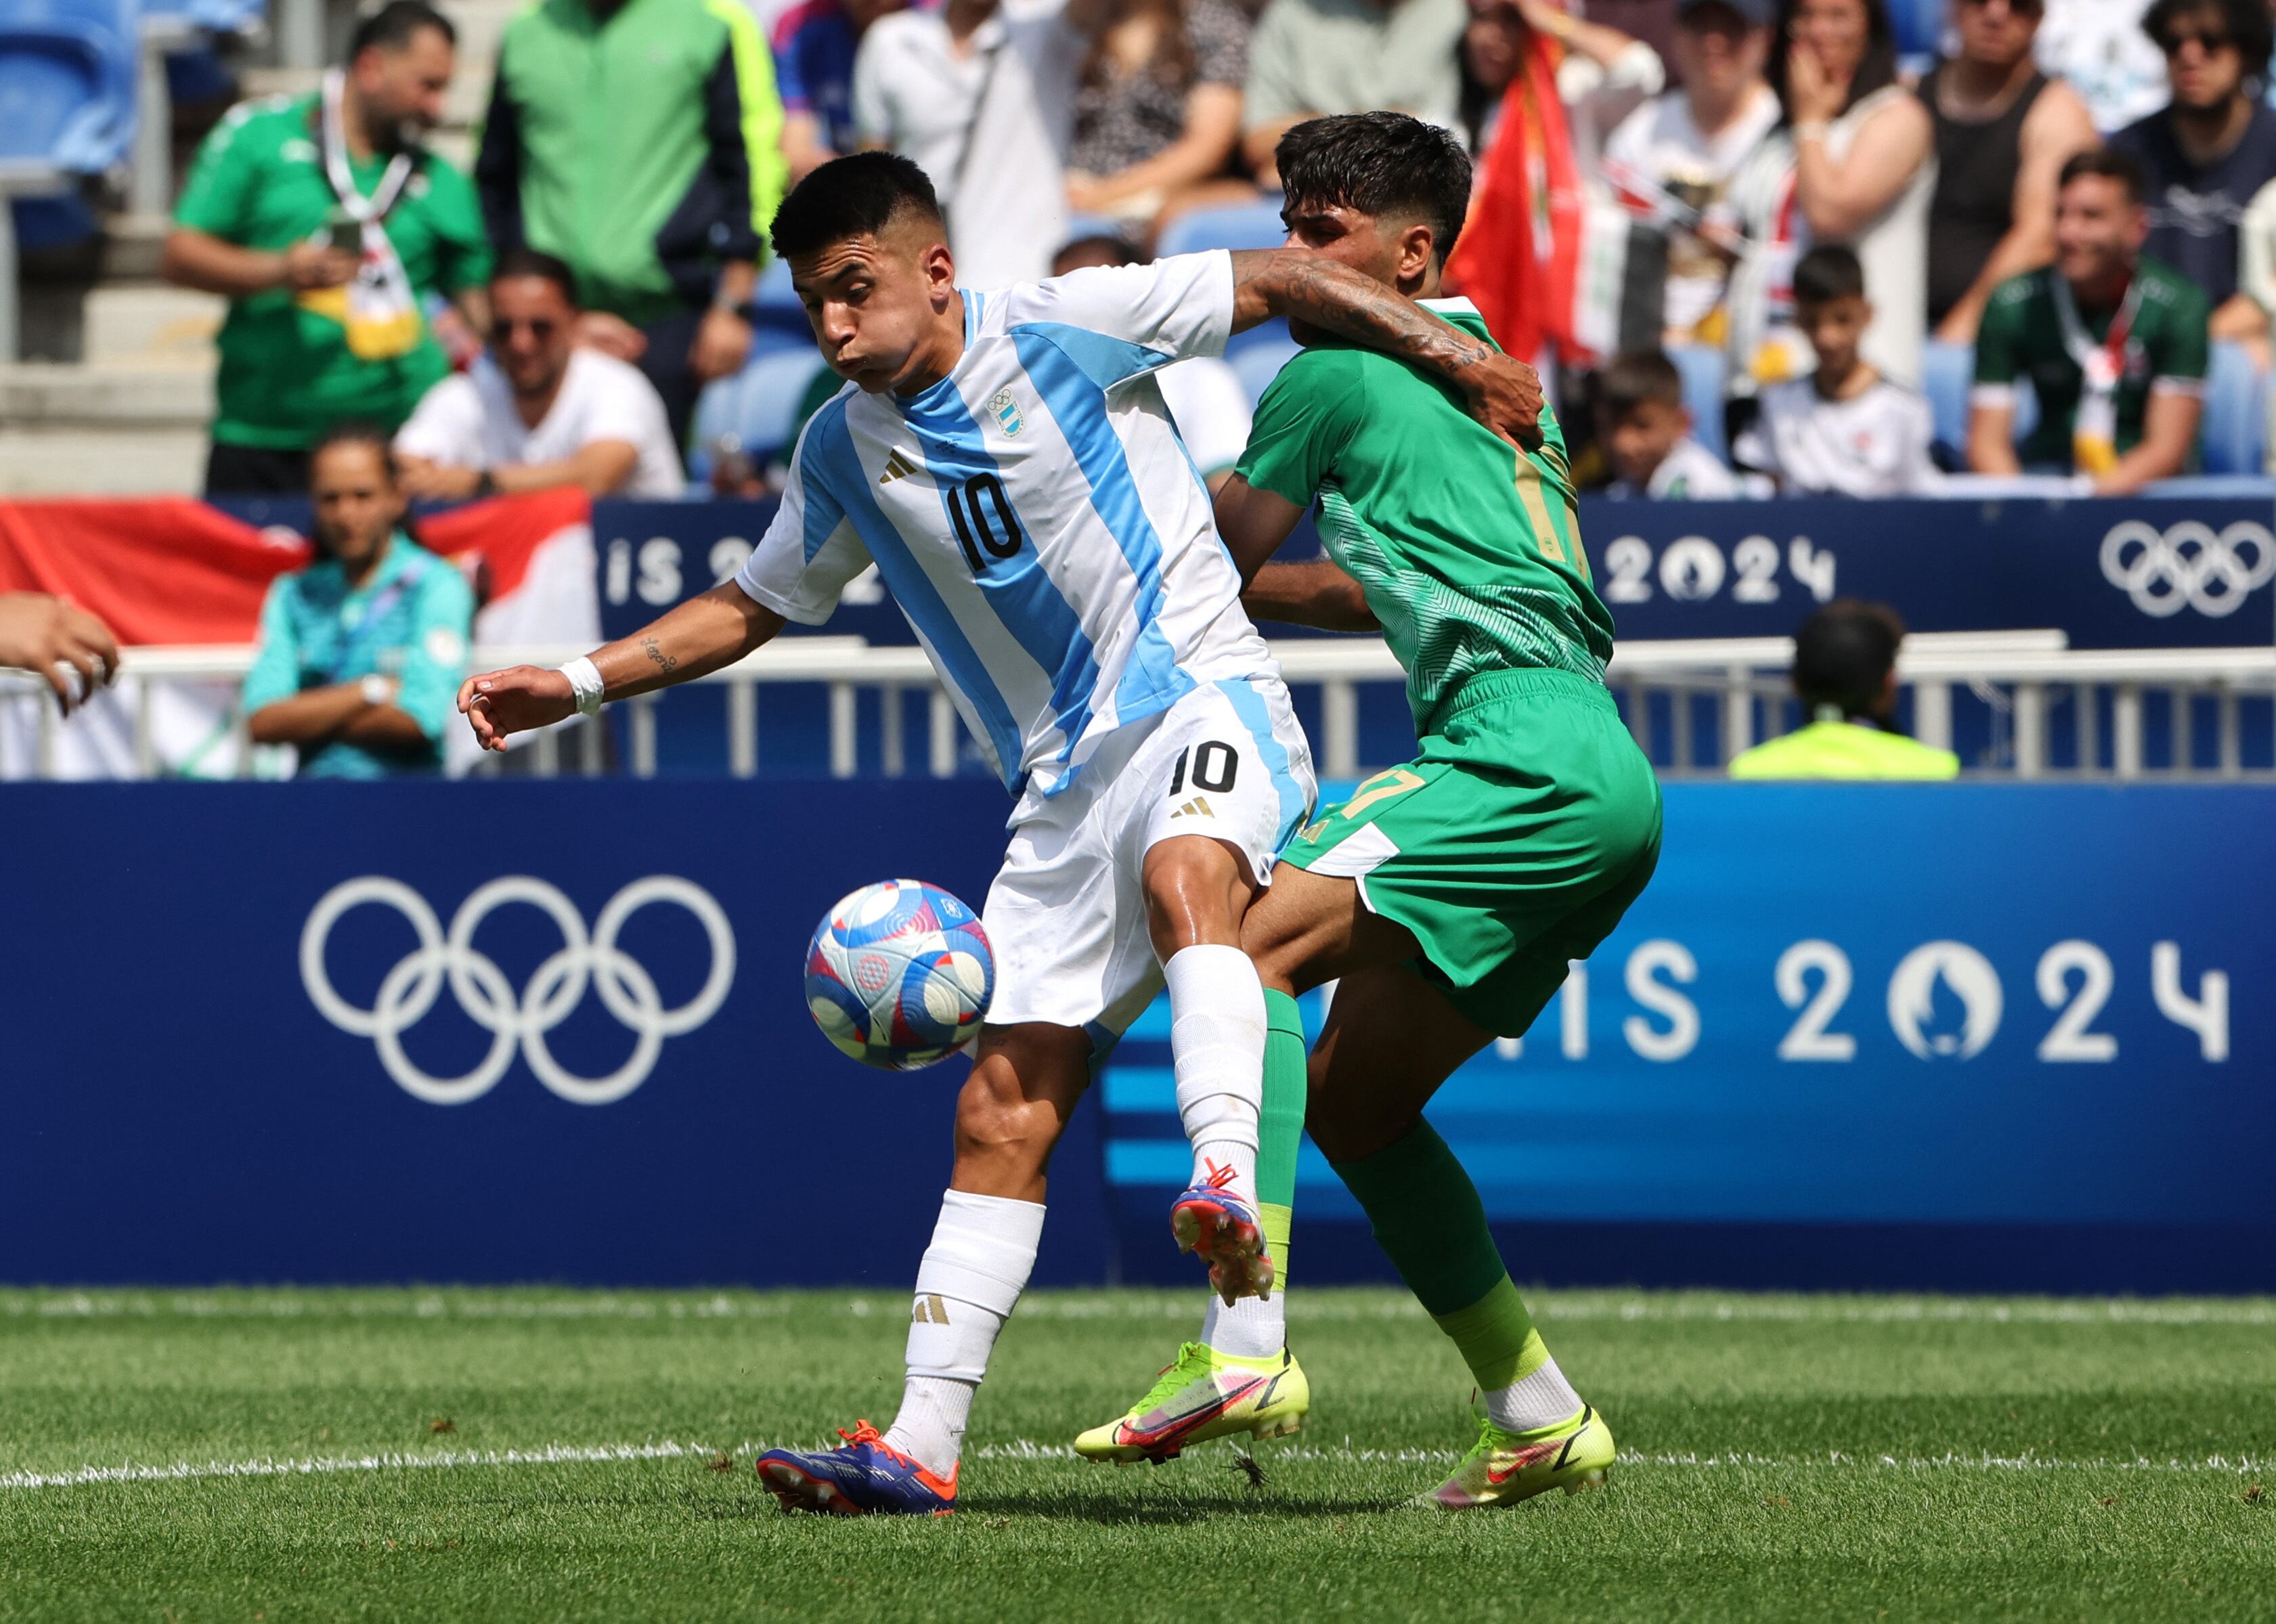
[{"label": "player in white and light-blue striped number 10 kit", "polygon": [[1095,1051],[1163,985],[1195,1151],[1172,1228],[1227,1303],[1272,1283],[1254,1194],[1265,1010],[1238,942],[1309,814],[1311,753],[1149,373],[1295,314],[1434,368],[1502,434],[1536,437],[1541,391],[1493,346],[1304,252],[963,291],[931,182],[885,152],[808,175],[774,246],[853,387],[799,437],[751,562],[560,671],[471,678],[460,710],[505,748],[733,664],[785,621],[822,623],[874,562],[1017,796],[983,908],[997,994],[917,1269],[901,1410],[883,1435],[860,1422],[842,1449],[760,1458],[785,1508],[938,1513],[1036,1260],[1052,1146]]}]

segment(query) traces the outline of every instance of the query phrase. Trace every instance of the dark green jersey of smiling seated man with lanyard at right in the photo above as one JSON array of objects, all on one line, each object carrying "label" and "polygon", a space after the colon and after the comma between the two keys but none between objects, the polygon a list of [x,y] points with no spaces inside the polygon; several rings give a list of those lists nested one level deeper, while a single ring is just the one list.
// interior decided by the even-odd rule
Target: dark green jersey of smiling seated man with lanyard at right
[{"label": "dark green jersey of smiling seated man with lanyard at right", "polygon": [[[2073,337],[2105,348],[2119,309],[2128,307],[2128,330],[2119,334],[2124,364],[2112,391],[2112,446],[2119,455],[2142,444],[2151,389],[2196,393],[2208,362],[2203,289],[2155,259],[2135,266],[2133,287],[2119,307],[2078,309],[2080,334]],[[2064,339],[2062,325],[2055,273],[2026,271],[1991,291],[1976,334],[1976,389],[2003,391],[2030,380],[2039,398],[2039,423],[2017,448],[2026,466],[2071,466],[2071,428],[2085,393],[2085,368],[2071,355],[2073,343]]]}]

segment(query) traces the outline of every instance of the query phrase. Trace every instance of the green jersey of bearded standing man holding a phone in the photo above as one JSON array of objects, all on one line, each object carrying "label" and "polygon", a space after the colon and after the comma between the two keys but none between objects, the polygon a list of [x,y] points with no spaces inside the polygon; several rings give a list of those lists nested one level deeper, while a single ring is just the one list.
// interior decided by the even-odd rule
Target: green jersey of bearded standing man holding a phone
[{"label": "green jersey of bearded standing man holding a phone", "polygon": [[[323,173],[316,96],[275,96],[232,107],[198,148],[173,216],[239,248],[282,252],[339,214]],[[378,191],[389,157],[348,159],[355,189]],[[489,280],[489,241],[473,187],[432,152],[414,159],[387,212],[387,241],[417,298],[457,293]],[[401,355],[362,359],[348,350],[344,300],[271,289],[230,300],[214,380],[214,439],[225,446],[300,450],[341,419],[394,430],[419,396],[451,371],[426,332]]]}]

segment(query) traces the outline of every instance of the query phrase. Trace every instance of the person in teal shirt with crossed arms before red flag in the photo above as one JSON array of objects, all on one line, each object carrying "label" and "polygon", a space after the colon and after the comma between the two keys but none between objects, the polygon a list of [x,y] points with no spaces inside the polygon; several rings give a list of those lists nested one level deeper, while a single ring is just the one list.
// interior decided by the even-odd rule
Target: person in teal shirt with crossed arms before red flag
[{"label": "person in teal shirt with crossed arms before red flag", "polygon": [[387,432],[341,425],[310,455],[314,564],[262,605],[246,676],[255,744],[300,751],[300,778],[442,771],[442,732],[467,676],[473,591],[410,539]]}]

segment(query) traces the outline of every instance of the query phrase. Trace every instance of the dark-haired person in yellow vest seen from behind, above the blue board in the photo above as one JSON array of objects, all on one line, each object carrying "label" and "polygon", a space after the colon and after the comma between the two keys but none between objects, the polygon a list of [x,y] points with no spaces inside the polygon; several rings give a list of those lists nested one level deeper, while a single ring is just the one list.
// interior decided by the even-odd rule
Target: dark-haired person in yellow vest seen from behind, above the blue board
[{"label": "dark-haired person in yellow vest seen from behind, above the blue board", "polygon": [[1809,723],[1741,751],[1732,778],[1957,778],[1960,757],[1896,728],[1905,623],[1880,603],[1837,598],[1793,635],[1793,691]]}]

